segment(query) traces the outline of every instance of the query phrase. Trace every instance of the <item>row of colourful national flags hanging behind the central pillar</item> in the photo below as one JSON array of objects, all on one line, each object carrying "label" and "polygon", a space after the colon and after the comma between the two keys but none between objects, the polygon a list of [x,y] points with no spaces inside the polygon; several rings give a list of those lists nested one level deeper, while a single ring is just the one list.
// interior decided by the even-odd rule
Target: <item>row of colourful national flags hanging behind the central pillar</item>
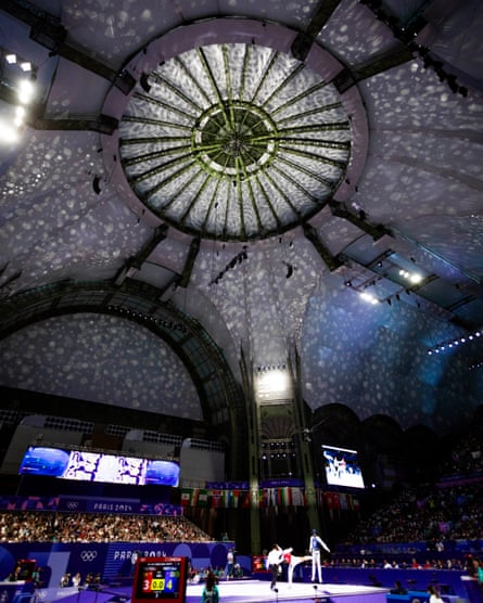
[{"label": "row of colourful national flags hanging behind the central pillar", "polygon": [[[329,510],[359,511],[359,500],[355,495],[316,489],[319,506]],[[182,488],[181,506],[205,506],[208,509],[250,509],[258,505],[306,506],[305,489],[300,487],[245,489]]]}]

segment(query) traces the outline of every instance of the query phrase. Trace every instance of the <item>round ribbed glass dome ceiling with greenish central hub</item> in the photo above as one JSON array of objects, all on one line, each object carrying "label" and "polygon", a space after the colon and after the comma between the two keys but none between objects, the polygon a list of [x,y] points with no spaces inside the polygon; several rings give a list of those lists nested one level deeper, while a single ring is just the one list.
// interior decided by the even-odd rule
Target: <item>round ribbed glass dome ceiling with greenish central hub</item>
[{"label": "round ribbed glass dome ceiling with greenish central hub", "polygon": [[207,239],[279,234],[343,180],[351,127],[335,87],[256,44],[189,50],[143,74],[119,127],[131,190],[157,217]]}]

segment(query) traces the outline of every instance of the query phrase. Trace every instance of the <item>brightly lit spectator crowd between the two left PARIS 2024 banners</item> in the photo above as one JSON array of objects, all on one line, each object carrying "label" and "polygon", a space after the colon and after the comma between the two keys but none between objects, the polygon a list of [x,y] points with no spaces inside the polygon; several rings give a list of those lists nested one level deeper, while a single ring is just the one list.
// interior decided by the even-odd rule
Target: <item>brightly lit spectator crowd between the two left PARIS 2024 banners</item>
[{"label": "brightly lit spectator crowd between the two left PARIS 2024 banners", "polygon": [[205,542],[183,516],[0,512],[0,542]]}]

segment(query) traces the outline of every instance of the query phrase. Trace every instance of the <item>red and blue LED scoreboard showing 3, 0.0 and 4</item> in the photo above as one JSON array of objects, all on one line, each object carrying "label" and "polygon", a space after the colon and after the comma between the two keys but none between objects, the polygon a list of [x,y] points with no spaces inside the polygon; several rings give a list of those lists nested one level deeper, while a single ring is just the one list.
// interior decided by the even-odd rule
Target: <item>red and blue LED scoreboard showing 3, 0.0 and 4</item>
[{"label": "red and blue LED scoreboard showing 3, 0.0 and 4", "polygon": [[132,603],[168,599],[185,603],[188,557],[140,557],[136,562]]}]

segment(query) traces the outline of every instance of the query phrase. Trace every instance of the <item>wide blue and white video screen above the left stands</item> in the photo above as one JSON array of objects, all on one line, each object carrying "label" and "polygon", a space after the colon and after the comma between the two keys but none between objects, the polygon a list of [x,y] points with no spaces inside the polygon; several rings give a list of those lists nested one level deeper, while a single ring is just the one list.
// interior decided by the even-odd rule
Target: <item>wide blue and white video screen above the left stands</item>
[{"label": "wide blue and white video screen above the left stands", "polygon": [[63,479],[178,486],[179,463],[86,450],[30,446],[24,454],[21,475],[47,475]]}]

